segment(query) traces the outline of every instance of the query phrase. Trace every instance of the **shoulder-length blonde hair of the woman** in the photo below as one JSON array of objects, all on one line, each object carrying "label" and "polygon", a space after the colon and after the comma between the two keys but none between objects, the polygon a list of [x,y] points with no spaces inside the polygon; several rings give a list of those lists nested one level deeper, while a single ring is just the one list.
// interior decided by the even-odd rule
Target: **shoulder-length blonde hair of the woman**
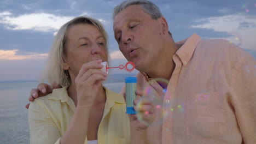
[{"label": "shoulder-length blonde hair of the woman", "polygon": [[69,76],[68,70],[63,69],[63,62],[66,55],[66,33],[70,27],[78,24],[89,24],[95,26],[106,40],[106,49],[108,52],[108,36],[102,23],[96,19],[92,19],[91,17],[75,17],[73,20],[65,23],[57,32],[53,46],[49,52],[48,63],[46,64],[46,67],[43,71],[42,81],[46,80],[49,83],[57,82],[62,87],[69,87],[71,85],[71,78]]}]

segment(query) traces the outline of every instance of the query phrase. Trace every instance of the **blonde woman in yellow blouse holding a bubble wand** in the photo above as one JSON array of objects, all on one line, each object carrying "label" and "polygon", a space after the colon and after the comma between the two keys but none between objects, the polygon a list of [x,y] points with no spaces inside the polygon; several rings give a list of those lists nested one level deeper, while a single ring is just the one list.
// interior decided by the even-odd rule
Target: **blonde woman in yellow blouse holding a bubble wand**
[{"label": "blonde woman in yellow blouse holding a bubble wand", "polygon": [[55,37],[44,79],[62,88],[29,107],[31,143],[130,143],[124,98],[102,86],[107,33],[89,17],[63,25]]}]

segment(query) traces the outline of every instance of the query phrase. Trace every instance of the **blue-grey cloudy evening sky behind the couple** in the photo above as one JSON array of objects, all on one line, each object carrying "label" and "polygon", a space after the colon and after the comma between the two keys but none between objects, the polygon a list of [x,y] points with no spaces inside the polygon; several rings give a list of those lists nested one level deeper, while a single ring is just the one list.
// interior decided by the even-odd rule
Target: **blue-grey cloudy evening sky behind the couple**
[{"label": "blue-grey cloudy evening sky behind the couple", "polygon": [[[54,35],[76,16],[100,20],[109,36],[110,66],[127,62],[113,35],[113,8],[122,1],[1,0],[0,81],[38,80]],[[153,0],[167,19],[174,41],[197,33],[226,39],[256,59],[256,0]],[[112,70],[112,74],[127,74]],[[137,73],[133,71],[132,73]]]}]

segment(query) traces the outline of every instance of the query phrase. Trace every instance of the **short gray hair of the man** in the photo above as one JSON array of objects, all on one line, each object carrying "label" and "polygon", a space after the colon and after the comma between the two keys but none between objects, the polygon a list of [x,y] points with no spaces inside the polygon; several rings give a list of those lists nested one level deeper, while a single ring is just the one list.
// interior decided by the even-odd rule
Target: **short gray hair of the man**
[{"label": "short gray hair of the man", "polygon": [[[126,9],[127,7],[130,7],[131,5],[140,5],[141,8],[144,10],[145,13],[149,14],[152,19],[158,20],[159,17],[162,17],[162,13],[158,6],[156,6],[154,3],[147,1],[147,0],[126,0],[123,3],[117,5],[114,8],[113,12],[113,20],[115,16],[117,16],[122,10]],[[170,31],[168,33],[171,35],[172,34]]]}]

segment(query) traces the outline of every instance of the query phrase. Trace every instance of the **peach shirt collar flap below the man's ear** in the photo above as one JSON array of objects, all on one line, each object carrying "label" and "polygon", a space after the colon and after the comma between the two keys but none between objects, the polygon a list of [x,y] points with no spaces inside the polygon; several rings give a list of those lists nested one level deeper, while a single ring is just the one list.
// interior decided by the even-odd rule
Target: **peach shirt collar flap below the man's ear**
[{"label": "peach shirt collar flap below the man's ear", "polygon": [[188,39],[184,39],[176,43],[176,44],[182,44],[182,46],[177,50],[176,55],[179,56],[184,67],[186,67],[191,57],[193,56],[195,48],[200,40],[201,40],[201,37],[196,33],[194,33]]}]

